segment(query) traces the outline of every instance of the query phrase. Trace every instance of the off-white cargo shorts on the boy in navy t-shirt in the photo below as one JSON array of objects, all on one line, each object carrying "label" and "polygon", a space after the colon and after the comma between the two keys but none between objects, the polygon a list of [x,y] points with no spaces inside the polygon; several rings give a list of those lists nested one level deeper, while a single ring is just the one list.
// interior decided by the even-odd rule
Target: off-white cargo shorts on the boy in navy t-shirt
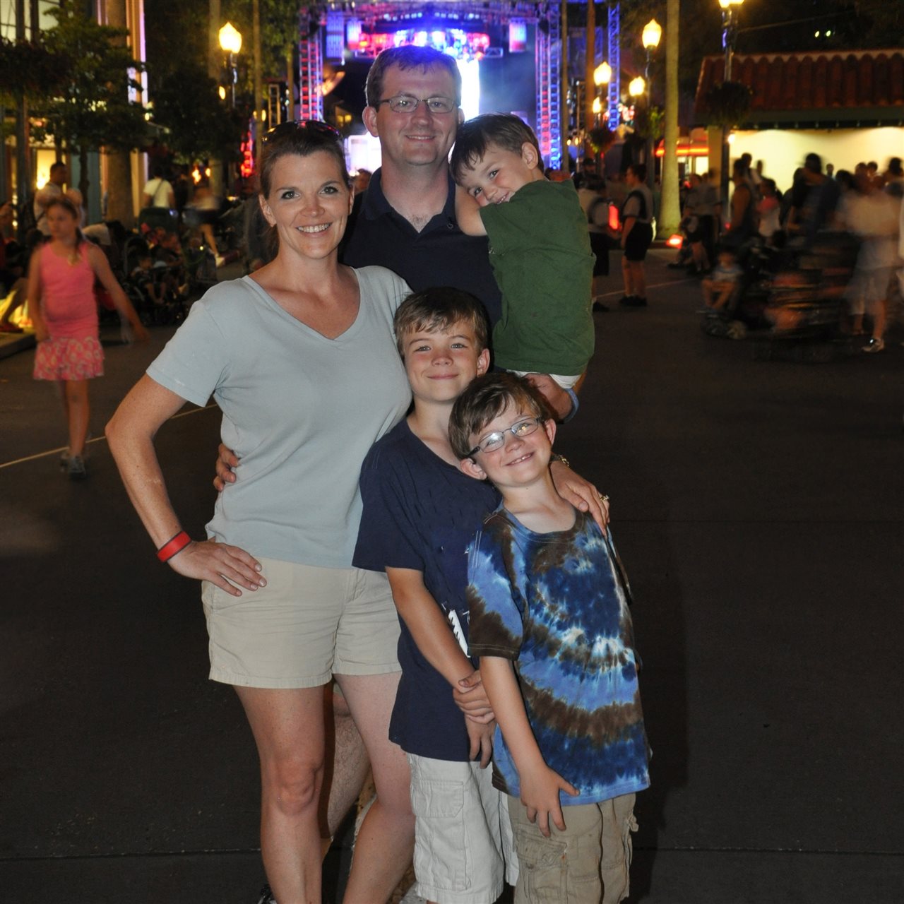
[{"label": "off-white cargo shorts on the boy in navy t-shirt", "polygon": [[492,767],[408,755],[415,891],[437,904],[492,904],[518,863]]}]

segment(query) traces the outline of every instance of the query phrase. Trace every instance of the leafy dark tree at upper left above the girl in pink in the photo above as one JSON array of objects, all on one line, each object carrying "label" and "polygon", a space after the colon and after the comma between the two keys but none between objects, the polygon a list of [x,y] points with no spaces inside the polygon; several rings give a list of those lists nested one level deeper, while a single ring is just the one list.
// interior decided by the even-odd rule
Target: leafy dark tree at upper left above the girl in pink
[{"label": "leafy dark tree at upper left above the girl in pink", "polygon": [[69,61],[61,91],[37,103],[33,116],[42,120],[33,128],[36,137],[52,137],[80,163],[79,189],[88,194],[88,153],[102,147],[131,149],[146,138],[145,108],[129,99],[129,89],[141,83],[129,73],[141,71],[117,39],[118,28],[100,25],[76,5],[52,10],[57,24],[44,33],[49,51]]}]

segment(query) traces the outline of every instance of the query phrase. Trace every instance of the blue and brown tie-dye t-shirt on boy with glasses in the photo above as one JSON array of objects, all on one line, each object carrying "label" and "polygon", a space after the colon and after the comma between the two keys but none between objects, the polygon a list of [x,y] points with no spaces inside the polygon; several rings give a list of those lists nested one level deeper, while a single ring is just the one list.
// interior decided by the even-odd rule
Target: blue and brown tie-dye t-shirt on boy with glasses
[{"label": "blue and brown tie-dye t-shirt on boy with glasses", "polygon": [[[592,804],[650,784],[634,635],[607,540],[577,512],[568,531],[535,533],[500,507],[468,551],[471,653],[511,659],[547,766]],[[520,796],[501,731],[496,787]]]}]

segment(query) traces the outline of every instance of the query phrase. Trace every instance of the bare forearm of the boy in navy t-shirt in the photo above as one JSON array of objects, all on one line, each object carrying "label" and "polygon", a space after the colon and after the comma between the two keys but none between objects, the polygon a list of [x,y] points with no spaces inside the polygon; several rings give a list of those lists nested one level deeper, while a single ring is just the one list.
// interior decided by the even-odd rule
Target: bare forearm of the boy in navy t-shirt
[{"label": "bare forearm of the boy in navy t-shirt", "polygon": [[[451,626],[443,617],[429,590],[424,586],[423,572],[407,568],[388,568],[392,599],[415,644],[424,658],[453,688],[474,675],[475,668],[467,658]],[[465,699],[466,698],[466,699]],[[483,683],[477,681],[472,691],[459,695],[457,705],[468,720],[486,723],[493,720],[493,710]]]}]

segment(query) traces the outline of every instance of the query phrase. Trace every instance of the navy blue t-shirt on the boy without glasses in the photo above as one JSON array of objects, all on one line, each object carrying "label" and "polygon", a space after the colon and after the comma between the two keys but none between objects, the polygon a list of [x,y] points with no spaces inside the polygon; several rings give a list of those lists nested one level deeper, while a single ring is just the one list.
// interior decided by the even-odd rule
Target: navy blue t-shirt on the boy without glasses
[{"label": "navy blue t-shirt on the boy without glasses", "polygon": [[[486,515],[499,504],[494,486],[447,464],[402,420],[364,459],[361,495],[364,508],[355,567],[421,571],[424,586],[466,650],[466,550]],[[399,620],[401,680],[390,740],[419,757],[466,761],[465,717],[452,700],[452,688],[420,654]]]}]

